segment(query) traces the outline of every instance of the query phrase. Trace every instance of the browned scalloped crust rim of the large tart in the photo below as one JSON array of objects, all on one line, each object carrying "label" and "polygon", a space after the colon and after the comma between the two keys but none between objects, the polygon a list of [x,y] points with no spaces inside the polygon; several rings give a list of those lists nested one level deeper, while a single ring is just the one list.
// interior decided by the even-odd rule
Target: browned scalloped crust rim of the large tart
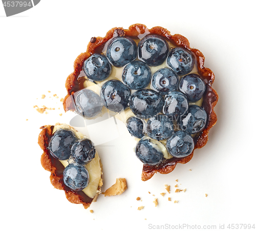
[{"label": "browned scalloped crust rim of the large tart", "polygon": [[[197,69],[201,76],[201,78],[206,83],[206,91],[204,93],[203,104],[202,108],[207,113],[208,119],[205,129],[200,133],[199,136],[194,138],[195,141],[195,148],[203,147],[208,141],[208,133],[212,126],[217,122],[217,116],[214,112],[214,107],[218,101],[218,94],[217,92],[211,87],[214,83],[215,75],[214,73],[207,67],[204,67],[204,56],[200,52],[200,50],[196,48],[191,48],[189,45],[188,40],[179,34],[171,35],[170,32],[162,27],[153,27],[152,29],[148,29],[143,24],[133,24],[129,27],[129,29],[125,30],[123,28],[113,28],[108,31],[105,37],[92,37],[91,41],[88,44],[87,51],[81,53],[74,62],[74,71],[71,73],[67,80],[66,80],[66,89],[68,91],[67,96],[63,100],[63,107],[65,111],[74,111],[73,105],[73,94],[80,90],[79,82],[78,82],[78,75],[80,71],[82,71],[83,62],[88,59],[94,53],[101,53],[104,45],[113,37],[116,36],[129,36],[131,38],[142,38],[148,34],[157,34],[164,37],[166,40],[170,41],[176,46],[186,48],[194,53],[197,61]],[[147,166],[143,165],[142,170],[142,181],[147,181],[150,179],[156,172],[160,172],[161,174],[167,174],[172,172],[177,163],[185,164],[191,160],[193,157],[194,151],[185,158],[172,158],[169,160],[165,160],[159,166]]]}]

